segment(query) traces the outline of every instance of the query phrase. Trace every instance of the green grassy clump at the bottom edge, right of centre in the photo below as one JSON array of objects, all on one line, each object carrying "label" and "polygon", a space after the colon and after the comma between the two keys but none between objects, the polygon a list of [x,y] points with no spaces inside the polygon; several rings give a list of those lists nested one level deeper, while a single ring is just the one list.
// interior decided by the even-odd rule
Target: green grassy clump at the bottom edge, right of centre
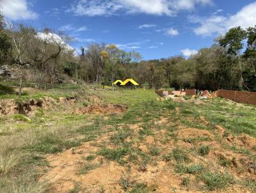
[{"label": "green grassy clump at the bottom edge, right of centre", "polygon": [[233,183],[233,177],[228,173],[207,172],[202,174],[201,180],[209,190],[225,189]]}]

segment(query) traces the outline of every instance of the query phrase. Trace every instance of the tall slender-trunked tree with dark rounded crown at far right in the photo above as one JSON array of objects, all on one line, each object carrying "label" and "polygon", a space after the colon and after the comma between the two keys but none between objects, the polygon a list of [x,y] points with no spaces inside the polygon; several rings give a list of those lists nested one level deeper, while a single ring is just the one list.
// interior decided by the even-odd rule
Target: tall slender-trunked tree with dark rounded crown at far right
[{"label": "tall slender-trunked tree with dark rounded crown at far right", "polygon": [[243,65],[242,65],[242,49],[244,47],[243,40],[246,38],[246,31],[239,27],[234,27],[230,29],[226,35],[221,38],[220,45],[224,48],[227,48],[227,53],[230,56],[238,57],[238,66],[239,66],[239,88],[243,89],[243,86],[250,91],[248,86],[246,86],[243,79]]}]

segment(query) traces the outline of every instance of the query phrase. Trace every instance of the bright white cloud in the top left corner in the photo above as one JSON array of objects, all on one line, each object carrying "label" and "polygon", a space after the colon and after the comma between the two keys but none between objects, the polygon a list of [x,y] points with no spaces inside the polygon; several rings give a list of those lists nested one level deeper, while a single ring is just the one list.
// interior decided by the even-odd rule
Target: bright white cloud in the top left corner
[{"label": "bright white cloud in the top left corner", "polygon": [[10,20],[36,19],[38,14],[29,10],[27,0],[0,0],[3,15]]}]

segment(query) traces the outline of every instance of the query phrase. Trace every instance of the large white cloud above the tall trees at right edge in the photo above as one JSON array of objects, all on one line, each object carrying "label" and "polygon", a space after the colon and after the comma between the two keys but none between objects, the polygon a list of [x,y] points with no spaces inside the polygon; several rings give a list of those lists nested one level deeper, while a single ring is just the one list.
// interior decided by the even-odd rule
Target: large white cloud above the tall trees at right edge
[{"label": "large white cloud above the tall trees at right edge", "polygon": [[211,36],[214,33],[225,33],[232,27],[241,26],[243,28],[255,26],[256,24],[256,2],[244,6],[235,15],[200,18],[192,17],[191,22],[198,23],[200,26],[194,29],[196,35]]}]

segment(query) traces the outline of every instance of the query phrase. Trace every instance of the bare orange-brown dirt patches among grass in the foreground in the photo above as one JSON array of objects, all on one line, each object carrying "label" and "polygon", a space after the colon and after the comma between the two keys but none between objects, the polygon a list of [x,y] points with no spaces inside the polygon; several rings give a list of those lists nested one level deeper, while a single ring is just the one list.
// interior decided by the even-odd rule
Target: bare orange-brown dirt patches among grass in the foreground
[{"label": "bare orange-brown dirt patches among grass in the foreground", "polygon": [[[205,118],[201,118],[204,120]],[[166,118],[155,120],[156,124],[166,124]],[[126,142],[132,141],[132,146],[138,148],[143,153],[148,153],[148,147],[156,145],[161,148],[161,155],[168,153],[173,148],[182,148],[185,150],[193,150],[198,146],[209,145],[211,151],[209,155],[205,157],[198,157],[189,154],[189,159],[193,163],[203,164],[205,167],[209,167],[212,171],[218,169],[223,171],[223,167],[218,167],[218,160],[224,158],[229,163],[228,171],[236,178],[256,178],[256,166],[253,165],[250,158],[234,153],[234,151],[224,150],[222,148],[222,142],[227,145],[236,145],[241,148],[252,149],[256,143],[256,139],[248,135],[234,136],[231,134],[224,135],[225,129],[216,125],[215,130],[201,130],[197,128],[179,127],[175,134],[177,139],[172,139],[168,143],[161,143],[161,139],[166,136],[167,130],[154,129],[154,136],[147,135],[143,141],[138,141],[138,133],[143,130],[141,127],[143,123],[127,125],[127,129],[132,132],[132,135],[125,139]],[[207,124],[207,123],[205,123]],[[124,125],[123,125],[124,126]],[[122,127],[120,127],[122,128]],[[58,155],[49,155],[47,160],[50,167],[47,169],[47,173],[41,178],[41,180],[47,180],[52,185],[52,192],[69,192],[74,189],[78,184],[80,192],[99,192],[100,187],[103,186],[106,192],[125,192],[120,184],[120,179],[125,178],[130,181],[141,181],[152,188],[151,192],[205,192],[205,190],[198,190],[198,187],[204,185],[200,182],[189,187],[182,187],[182,179],[186,176],[190,178],[196,178],[195,175],[189,174],[177,174],[175,173],[176,163],[173,161],[163,160],[161,155],[157,156],[153,163],[148,164],[145,168],[137,166],[131,162],[127,162],[124,166],[108,160],[102,155],[98,155],[100,151],[100,144],[107,144],[107,148],[114,149],[115,145],[111,144],[109,139],[115,132],[111,132],[108,135],[99,137],[96,141],[84,143],[76,149],[66,150]],[[205,139],[207,141],[199,141],[196,143],[188,143],[191,139]],[[221,137],[221,138],[220,138]],[[95,155],[95,158],[88,162],[86,157]],[[99,164],[100,163],[100,164]],[[79,173],[81,168],[86,164],[94,165],[95,168],[88,171],[88,173]],[[250,192],[250,190],[243,189],[237,185],[227,187],[225,190],[216,190],[212,192]]]}]

